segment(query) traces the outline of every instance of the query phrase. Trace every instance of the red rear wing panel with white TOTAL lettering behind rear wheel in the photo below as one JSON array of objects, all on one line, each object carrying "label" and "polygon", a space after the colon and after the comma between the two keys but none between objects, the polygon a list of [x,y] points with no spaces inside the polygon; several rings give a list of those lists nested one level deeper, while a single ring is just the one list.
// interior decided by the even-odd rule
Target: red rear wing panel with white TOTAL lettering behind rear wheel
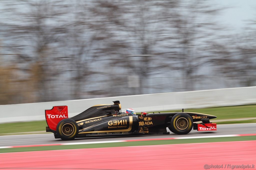
[{"label": "red rear wing panel with white TOTAL lettering behind rear wheel", "polygon": [[51,130],[57,128],[62,119],[68,118],[68,106],[54,106],[51,110],[45,110],[45,119]]}]

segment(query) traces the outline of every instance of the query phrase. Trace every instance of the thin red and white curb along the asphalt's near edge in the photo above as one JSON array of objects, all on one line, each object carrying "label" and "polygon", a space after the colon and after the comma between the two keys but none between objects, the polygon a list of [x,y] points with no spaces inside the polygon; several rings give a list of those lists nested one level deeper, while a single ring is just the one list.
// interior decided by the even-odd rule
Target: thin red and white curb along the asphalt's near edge
[{"label": "thin red and white curb along the asphalt's near edge", "polygon": [[133,139],[133,140],[112,140],[112,141],[96,141],[96,142],[74,142],[74,143],[39,144],[39,145],[20,145],[20,146],[5,146],[5,147],[0,147],[0,149],[5,149],[5,148],[24,148],[24,147],[42,147],[42,146],[58,146],[58,145],[95,144],[95,143],[115,143],[115,142],[151,141],[151,140],[219,138],[219,137],[235,137],[235,136],[256,136],[256,133],[253,133],[253,134],[240,134],[240,135],[192,136],[192,137],[177,137],[177,138]]}]

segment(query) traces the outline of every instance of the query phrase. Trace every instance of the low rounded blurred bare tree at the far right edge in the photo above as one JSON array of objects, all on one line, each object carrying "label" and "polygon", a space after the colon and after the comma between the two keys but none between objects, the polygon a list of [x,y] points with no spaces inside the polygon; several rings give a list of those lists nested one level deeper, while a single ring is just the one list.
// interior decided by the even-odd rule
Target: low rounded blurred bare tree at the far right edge
[{"label": "low rounded blurred bare tree at the far right edge", "polygon": [[226,39],[225,43],[216,43],[215,57],[211,59],[220,76],[243,87],[255,86],[256,82],[256,31],[247,30]]}]

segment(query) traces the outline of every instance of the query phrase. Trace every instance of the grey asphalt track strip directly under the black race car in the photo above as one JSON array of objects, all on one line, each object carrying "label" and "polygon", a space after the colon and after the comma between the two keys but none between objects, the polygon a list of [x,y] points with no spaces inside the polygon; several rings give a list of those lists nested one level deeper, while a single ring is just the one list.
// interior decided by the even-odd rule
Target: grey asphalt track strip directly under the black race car
[{"label": "grey asphalt track strip directly under the black race car", "polygon": [[0,136],[0,147],[18,146],[18,145],[38,145],[54,143],[73,143],[73,142],[93,142],[93,141],[112,141],[112,140],[133,140],[133,139],[154,139],[154,138],[172,138],[172,137],[192,137],[192,136],[215,136],[215,135],[236,135],[255,133],[256,123],[250,124],[230,124],[217,125],[217,131],[199,132],[191,130],[187,135],[176,135],[170,132],[169,135],[148,135],[148,136],[125,136],[125,137],[97,137],[97,138],[78,138],[71,141],[55,139],[53,133],[38,135],[12,135]]}]

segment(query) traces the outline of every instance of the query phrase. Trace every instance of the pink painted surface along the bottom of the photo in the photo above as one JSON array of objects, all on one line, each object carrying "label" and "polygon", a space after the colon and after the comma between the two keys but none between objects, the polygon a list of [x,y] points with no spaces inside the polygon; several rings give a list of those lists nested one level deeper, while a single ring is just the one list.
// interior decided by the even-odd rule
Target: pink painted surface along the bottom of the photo
[{"label": "pink painted surface along the bottom of the photo", "polygon": [[[0,154],[0,169],[204,169],[256,164],[256,141],[34,151]],[[255,167],[256,168],[256,167]]]}]

